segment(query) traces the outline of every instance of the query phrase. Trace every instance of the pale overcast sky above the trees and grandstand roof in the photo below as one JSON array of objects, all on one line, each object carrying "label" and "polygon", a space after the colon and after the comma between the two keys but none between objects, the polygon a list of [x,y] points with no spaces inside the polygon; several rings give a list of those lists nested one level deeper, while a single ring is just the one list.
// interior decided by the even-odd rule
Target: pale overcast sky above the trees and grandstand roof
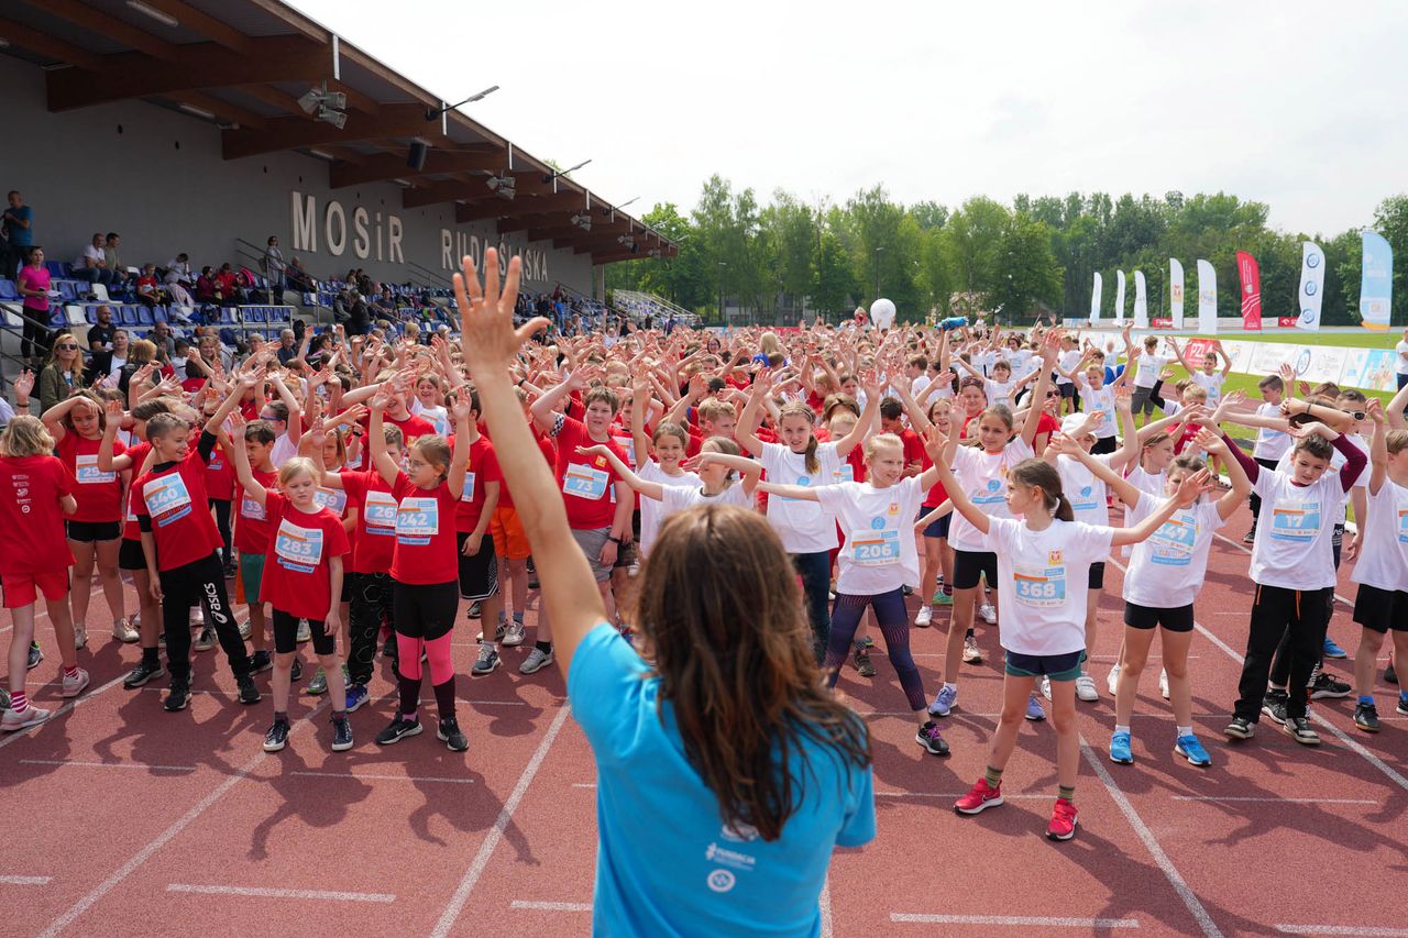
[{"label": "pale overcast sky above the trees and grandstand roof", "polygon": [[1408,190],[1405,3],[293,4],[451,100],[503,86],[467,113],[632,214],[717,172],[763,201],[1225,190],[1333,235]]}]

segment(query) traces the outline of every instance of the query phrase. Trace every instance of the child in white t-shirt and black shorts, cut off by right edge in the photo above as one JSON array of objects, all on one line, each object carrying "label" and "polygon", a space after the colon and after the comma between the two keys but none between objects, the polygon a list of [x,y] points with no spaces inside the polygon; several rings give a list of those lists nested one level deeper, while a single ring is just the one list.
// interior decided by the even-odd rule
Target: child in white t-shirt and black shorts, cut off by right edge
[{"label": "child in white t-shirt and black shorts, cut off by right edge", "polygon": [[[1354,621],[1360,624],[1354,654],[1354,725],[1378,732],[1374,707],[1374,665],[1384,634],[1394,635],[1394,661],[1408,661],[1408,430],[1385,432],[1384,407],[1369,401],[1374,437],[1369,444],[1369,520],[1362,521],[1363,546],[1350,579],[1359,583]],[[1408,692],[1398,692],[1398,713],[1408,714]]]}]

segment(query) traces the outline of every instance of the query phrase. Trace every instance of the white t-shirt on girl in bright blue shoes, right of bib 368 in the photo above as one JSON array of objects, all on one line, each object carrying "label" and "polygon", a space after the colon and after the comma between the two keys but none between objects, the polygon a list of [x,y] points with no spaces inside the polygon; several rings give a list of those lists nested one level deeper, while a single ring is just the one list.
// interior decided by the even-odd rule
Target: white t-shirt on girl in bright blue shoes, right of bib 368
[{"label": "white t-shirt on girl in bright blue shoes, right of bib 368", "polygon": [[[1139,524],[1164,501],[1140,492],[1139,506],[1131,510],[1131,524]],[[1225,524],[1215,501],[1174,511],[1148,541],[1133,545],[1125,601],[1149,608],[1178,608],[1193,603],[1208,572],[1212,532]]]}]

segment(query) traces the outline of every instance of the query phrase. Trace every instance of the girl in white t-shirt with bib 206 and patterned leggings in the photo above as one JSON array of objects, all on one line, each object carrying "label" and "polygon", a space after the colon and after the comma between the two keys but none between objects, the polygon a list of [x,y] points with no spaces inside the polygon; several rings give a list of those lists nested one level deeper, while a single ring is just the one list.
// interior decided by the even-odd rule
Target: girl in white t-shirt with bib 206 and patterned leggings
[{"label": "girl in white t-shirt with bib 206 and patterned leggings", "polygon": [[[931,459],[942,456],[943,439],[929,431],[925,449]],[[919,728],[915,741],[934,755],[948,755],[949,746],[939,727],[925,711],[924,679],[910,654],[910,614],[904,606],[904,587],[919,586],[919,555],[915,546],[914,518],[924,493],[938,480],[931,466],[918,476],[904,476],[904,444],[894,434],[877,434],[866,441],[869,482],[842,482],[826,486],[781,484],[762,482],[769,506],[781,499],[815,501],[828,517],[835,517],[846,532],[846,548],[838,558],[836,603],[831,614],[826,645],[828,682],[836,684],[841,663],[850,654],[856,627],[866,608],[873,608],[886,652]]]}]

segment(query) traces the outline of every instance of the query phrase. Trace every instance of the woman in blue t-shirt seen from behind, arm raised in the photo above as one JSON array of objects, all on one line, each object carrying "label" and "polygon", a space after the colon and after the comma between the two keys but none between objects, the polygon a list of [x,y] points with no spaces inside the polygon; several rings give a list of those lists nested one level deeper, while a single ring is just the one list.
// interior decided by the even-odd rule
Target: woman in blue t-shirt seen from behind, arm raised
[{"label": "woman in blue t-shirt seen from behind, arm raised", "polygon": [[552,615],[572,713],[597,763],[594,928],[611,935],[815,935],[834,846],[874,837],[870,739],[822,687],[791,562],[756,513],[701,506],[660,530],[635,625],[605,624],[587,561],[508,366],[520,262],[500,293],[455,275],[469,363]]}]

